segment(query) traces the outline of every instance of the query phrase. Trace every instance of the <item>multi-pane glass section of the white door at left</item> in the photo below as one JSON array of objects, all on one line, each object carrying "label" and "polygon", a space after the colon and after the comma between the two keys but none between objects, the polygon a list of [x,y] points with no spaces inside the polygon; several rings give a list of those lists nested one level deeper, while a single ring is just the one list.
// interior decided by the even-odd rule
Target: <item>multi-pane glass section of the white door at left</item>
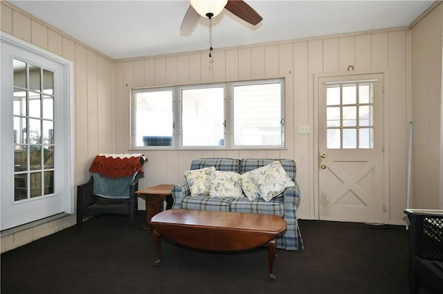
[{"label": "multi-pane glass section of the white door at left", "polygon": [[54,74],[14,59],[14,200],[54,193]]}]

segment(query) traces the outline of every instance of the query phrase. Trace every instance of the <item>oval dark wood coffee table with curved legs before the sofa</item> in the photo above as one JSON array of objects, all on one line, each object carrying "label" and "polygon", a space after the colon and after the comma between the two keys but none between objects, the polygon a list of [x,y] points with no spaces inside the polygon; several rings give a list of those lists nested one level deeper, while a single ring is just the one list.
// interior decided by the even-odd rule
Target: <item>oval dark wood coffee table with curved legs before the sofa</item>
[{"label": "oval dark wood coffee table with curved legs before the sofa", "polygon": [[214,251],[247,250],[267,243],[269,278],[274,282],[275,236],[286,230],[287,223],[281,216],[269,214],[171,209],[156,214],[151,226],[158,254],[156,266],[162,258],[161,235],[190,248]]}]

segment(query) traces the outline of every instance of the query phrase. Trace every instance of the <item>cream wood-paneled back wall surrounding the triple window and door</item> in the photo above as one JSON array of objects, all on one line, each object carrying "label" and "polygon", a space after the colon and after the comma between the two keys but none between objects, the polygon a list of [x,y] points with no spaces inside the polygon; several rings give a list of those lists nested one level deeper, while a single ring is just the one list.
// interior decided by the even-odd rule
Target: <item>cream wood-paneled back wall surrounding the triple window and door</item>
[{"label": "cream wood-paneled back wall surrounding the triple window and door", "polygon": [[[197,157],[292,158],[301,189],[300,218],[318,218],[316,185],[317,112],[314,109],[314,74],[383,71],[385,91],[386,223],[404,223],[406,205],[406,141],[408,121],[407,29],[328,36],[277,44],[260,44],[162,55],[115,63],[116,150],[130,146],[130,90],[284,77],[286,82],[286,143],[284,150],[142,150],[149,158],[143,187],[184,180],[183,172]],[[298,134],[297,126],[309,125],[311,133]],[[395,136],[392,136],[394,134]]]}]

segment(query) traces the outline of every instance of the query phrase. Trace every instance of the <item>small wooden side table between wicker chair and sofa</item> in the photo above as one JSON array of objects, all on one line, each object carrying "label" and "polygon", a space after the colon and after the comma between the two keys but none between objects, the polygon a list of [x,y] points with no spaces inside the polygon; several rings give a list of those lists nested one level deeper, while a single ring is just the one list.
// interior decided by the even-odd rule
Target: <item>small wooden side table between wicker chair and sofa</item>
[{"label": "small wooden side table between wicker chair and sofa", "polygon": [[146,224],[144,230],[152,230],[151,218],[159,212],[163,211],[163,201],[166,200],[166,209],[171,209],[174,199],[172,199],[171,191],[173,184],[158,184],[153,187],[136,191],[138,196],[145,199],[146,204]]}]

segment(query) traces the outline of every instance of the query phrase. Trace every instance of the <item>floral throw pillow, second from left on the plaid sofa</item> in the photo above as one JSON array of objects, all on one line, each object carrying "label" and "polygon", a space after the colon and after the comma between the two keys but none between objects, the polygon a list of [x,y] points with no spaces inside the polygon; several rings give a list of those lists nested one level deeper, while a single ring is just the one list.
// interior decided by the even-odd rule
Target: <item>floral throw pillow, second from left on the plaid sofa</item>
[{"label": "floral throw pillow, second from left on the plaid sofa", "polygon": [[210,174],[210,198],[233,197],[242,198],[240,174],[233,171],[213,171]]}]

